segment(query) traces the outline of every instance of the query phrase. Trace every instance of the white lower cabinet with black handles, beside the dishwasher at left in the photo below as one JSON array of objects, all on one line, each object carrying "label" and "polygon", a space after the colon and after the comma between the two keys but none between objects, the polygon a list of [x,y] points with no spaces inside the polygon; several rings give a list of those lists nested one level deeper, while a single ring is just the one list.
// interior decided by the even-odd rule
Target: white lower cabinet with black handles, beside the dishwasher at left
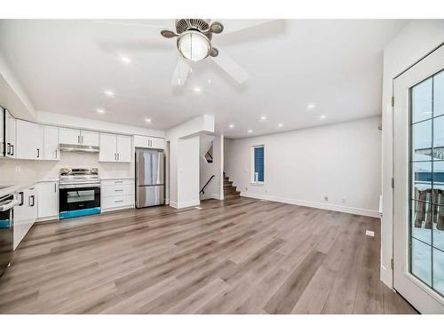
[{"label": "white lower cabinet with black handles, beside the dishwasher at left", "polygon": [[29,186],[19,191],[19,205],[14,207],[14,250],[28,234],[37,219],[37,188]]}]

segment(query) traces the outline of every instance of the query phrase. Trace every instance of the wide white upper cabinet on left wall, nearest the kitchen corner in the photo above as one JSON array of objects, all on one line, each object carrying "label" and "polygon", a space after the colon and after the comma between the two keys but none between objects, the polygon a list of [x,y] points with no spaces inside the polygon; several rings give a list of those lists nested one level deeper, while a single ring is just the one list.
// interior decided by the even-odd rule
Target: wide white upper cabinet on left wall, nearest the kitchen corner
[{"label": "wide white upper cabinet on left wall, nearest the kitchen corner", "polygon": [[44,127],[20,119],[16,122],[16,158],[43,160]]}]

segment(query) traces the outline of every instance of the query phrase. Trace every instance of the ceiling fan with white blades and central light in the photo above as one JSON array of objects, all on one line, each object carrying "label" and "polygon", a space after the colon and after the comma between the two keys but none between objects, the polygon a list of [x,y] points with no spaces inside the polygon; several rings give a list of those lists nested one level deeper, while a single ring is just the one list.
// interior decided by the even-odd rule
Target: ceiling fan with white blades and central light
[{"label": "ceiling fan with white blades and central light", "polygon": [[171,84],[178,86],[184,85],[186,77],[190,73],[191,64],[193,62],[202,61],[210,58],[219,67],[221,67],[228,75],[233,77],[237,83],[244,83],[248,80],[248,73],[239,66],[234,59],[230,58],[226,52],[220,50],[212,43],[214,34],[231,34],[246,28],[251,28],[259,24],[266,23],[269,20],[250,20],[247,22],[237,22],[226,31],[224,25],[218,21],[203,19],[178,19],[175,20],[175,31],[168,28],[161,28],[140,23],[101,21],[109,24],[123,24],[131,26],[143,26],[149,28],[151,36],[159,36],[165,38],[177,38],[176,47],[179,57],[178,64],[174,69]]}]

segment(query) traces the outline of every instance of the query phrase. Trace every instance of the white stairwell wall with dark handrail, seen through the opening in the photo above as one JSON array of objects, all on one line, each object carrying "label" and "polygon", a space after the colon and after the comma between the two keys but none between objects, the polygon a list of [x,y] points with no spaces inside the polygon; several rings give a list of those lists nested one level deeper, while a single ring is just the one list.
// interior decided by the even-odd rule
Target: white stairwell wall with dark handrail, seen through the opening
[{"label": "white stairwell wall with dark handrail, seen through the opening", "polygon": [[[210,145],[213,145],[213,163],[208,163],[205,159],[205,154],[207,153]],[[224,171],[224,155],[223,147],[224,137],[222,135],[211,136],[202,135],[200,144],[200,188],[202,188],[206,182],[210,179],[212,175],[214,178],[211,179],[210,183],[205,187],[204,194],[200,194],[200,199],[224,199],[224,188],[223,188],[223,171]],[[200,191],[200,189],[199,189]]]}]

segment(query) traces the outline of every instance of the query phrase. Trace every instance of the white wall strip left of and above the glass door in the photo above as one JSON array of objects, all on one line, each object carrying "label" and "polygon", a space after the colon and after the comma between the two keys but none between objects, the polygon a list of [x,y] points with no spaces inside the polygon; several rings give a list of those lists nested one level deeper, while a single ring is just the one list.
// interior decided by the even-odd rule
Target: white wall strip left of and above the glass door
[{"label": "white wall strip left of and above the glass door", "polygon": [[444,20],[412,20],[384,51],[381,280],[392,288],[392,79],[444,42]]}]

